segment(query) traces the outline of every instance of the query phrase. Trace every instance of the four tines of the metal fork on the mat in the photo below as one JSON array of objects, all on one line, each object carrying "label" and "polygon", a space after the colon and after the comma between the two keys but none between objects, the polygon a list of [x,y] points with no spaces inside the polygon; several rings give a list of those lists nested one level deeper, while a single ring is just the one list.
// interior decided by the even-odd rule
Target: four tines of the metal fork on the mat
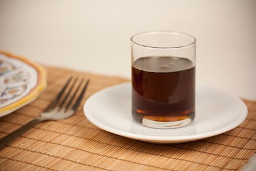
[{"label": "four tines of the metal fork on the mat", "polygon": [[[86,83],[83,85],[83,88],[81,89],[80,87],[82,86],[82,84],[84,82],[84,79],[81,79],[79,81],[79,84],[76,85],[77,84],[77,80],[78,80],[77,77],[75,79],[73,79],[73,77],[70,77],[67,80],[66,84],[63,86],[62,90],[56,96],[54,101],[51,104],[49,104],[49,106],[47,107],[47,109],[45,109],[45,111],[51,111],[55,107],[57,107],[58,110],[64,109],[65,111],[67,111],[70,108],[70,105],[73,105],[70,109],[72,111],[76,111],[76,109],[78,108],[81,100],[83,99],[83,95],[86,92],[87,85],[88,85],[88,83],[90,81],[89,79],[87,79]],[[71,82],[73,82],[73,83],[69,86],[69,84]],[[67,88],[68,88],[68,90],[67,90]],[[74,98],[76,97],[77,92],[80,89],[81,89],[81,93],[80,93],[79,97],[76,99],[76,101],[74,101]],[[63,97],[65,92],[66,92],[66,95],[65,95],[65,97]],[[71,92],[73,92],[72,96],[71,96],[71,94],[72,94]]]}]

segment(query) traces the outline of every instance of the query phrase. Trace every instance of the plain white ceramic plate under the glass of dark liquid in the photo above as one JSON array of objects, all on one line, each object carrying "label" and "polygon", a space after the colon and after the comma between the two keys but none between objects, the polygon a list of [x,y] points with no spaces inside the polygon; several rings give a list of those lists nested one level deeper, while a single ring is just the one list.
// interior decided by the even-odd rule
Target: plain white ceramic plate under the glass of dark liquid
[{"label": "plain white ceramic plate under the glass of dark liquid", "polygon": [[215,136],[238,126],[247,116],[247,107],[236,96],[200,85],[196,88],[195,119],[177,129],[152,129],[131,116],[131,83],[105,88],[84,105],[91,123],[119,136],[151,143],[182,143]]}]

